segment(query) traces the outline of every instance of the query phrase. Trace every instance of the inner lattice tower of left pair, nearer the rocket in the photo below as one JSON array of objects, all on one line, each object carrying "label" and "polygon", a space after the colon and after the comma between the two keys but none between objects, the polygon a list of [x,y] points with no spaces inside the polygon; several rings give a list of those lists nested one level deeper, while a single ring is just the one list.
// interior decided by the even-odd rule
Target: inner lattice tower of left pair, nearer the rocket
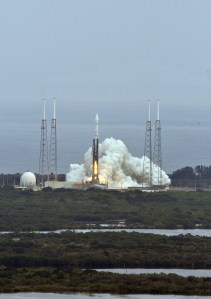
[{"label": "inner lattice tower of left pair, nearer the rocket", "polygon": [[51,120],[51,136],[49,151],[49,177],[50,180],[57,180],[57,138],[56,138],[56,99],[53,99],[54,109]]}]

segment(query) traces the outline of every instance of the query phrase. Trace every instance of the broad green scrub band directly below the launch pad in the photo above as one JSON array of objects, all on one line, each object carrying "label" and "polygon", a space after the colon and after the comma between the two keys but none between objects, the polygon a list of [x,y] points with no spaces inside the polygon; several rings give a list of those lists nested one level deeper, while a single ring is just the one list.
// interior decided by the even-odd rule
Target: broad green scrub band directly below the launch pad
[{"label": "broad green scrub band directly below the launch pad", "polygon": [[117,223],[128,227],[211,227],[210,192],[0,189],[0,231],[55,230]]}]

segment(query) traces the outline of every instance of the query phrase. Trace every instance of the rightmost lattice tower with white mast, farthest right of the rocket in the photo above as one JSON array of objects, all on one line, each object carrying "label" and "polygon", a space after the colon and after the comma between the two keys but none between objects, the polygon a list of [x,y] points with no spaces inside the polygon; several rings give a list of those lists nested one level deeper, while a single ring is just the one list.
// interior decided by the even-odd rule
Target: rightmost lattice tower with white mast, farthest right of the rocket
[{"label": "rightmost lattice tower with white mast, farthest right of the rocket", "polygon": [[160,101],[157,102],[157,120],[155,121],[154,156],[155,185],[162,185],[162,152],[161,152],[161,124],[160,124]]}]

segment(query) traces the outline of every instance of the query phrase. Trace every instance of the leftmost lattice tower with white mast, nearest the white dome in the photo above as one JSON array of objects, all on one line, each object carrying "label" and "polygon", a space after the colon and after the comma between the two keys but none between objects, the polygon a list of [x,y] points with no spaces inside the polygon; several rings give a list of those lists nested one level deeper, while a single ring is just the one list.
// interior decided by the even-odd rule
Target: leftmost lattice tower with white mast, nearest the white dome
[{"label": "leftmost lattice tower with white mast, nearest the white dome", "polygon": [[41,123],[40,160],[39,160],[39,184],[44,186],[44,176],[48,175],[48,139],[47,120],[45,117],[45,99],[43,100],[43,119]]}]

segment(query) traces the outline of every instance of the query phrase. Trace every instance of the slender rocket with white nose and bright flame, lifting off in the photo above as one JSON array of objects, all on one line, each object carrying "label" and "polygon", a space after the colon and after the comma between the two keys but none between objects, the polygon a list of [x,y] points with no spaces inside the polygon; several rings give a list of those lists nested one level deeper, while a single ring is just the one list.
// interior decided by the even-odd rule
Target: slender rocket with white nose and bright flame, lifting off
[{"label": "slender rocket with white nose and bright flame, lifting off", "polygon": [[92,183],[99,184],[99,163],[98,163],[98,156],[99,156],[99,118],[96,114],[95,117],[95,137],[93,139],[92,145]]}]

